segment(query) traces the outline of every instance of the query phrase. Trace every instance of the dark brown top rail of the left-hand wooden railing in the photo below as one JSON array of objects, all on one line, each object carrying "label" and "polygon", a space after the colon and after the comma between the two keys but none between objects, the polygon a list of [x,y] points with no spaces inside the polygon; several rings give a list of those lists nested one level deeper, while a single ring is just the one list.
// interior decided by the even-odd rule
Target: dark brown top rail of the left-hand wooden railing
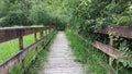
[{"label": "dark brown top rail of the left-hand wooden railing", "polygon": [[0,28],[0,42],[19,38],[29,34],[43,32],[51,27],[23,27],[23,28]]}]

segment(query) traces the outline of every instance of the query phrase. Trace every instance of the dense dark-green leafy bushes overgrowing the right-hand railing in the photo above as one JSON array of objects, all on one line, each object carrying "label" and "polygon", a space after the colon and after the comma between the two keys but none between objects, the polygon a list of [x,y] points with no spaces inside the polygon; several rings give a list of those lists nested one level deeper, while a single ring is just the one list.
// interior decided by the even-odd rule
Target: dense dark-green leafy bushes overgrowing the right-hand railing
[{"label": "dense dark-green leafy bushes overgrowing the right-hand railing", "polygon": [[[96,35],[92,33],[95,29],[103,28],[106,26],[120,26],[129,25],[132,23],[132,2],[131,0],[76,0],[69,1],[70,21],[68,28],[78,33],[82,37],[88,38],[90,41],[97,39],[106,45],[109,44],[109,37],[106,35]],[[123,44],[125,46],[123,46]],[[129,42],[129,40],[127,40]],[[122,49],[123,64],[114,63],[113,66],[117,73],[121,74],[122,69],[131,67],[131,49],[128,47],[131,42],[127,44],[124,39],[116,42],[118,49]],[[121,47],[122,46],[122,47]],[[125,49],[124,49],[125,48]],[[90,48],[91,49],[91,48]],[[90,50],[89,49],[89,50]],[[124,49],[124,50],[123,50]],[[127,50],[128,49],[128,50]],[[98,54],[98,53],[97,53]],[[102,58],[103,59],[103,58]],[[117,60],[119,62],[120,59]],[[117,69],[116,69],[117,67]],[[122,69],[120,69],[122,67]],[[119,70],[118,70],[119,69]],[[129,74],[129,69],[127,74]]]}]

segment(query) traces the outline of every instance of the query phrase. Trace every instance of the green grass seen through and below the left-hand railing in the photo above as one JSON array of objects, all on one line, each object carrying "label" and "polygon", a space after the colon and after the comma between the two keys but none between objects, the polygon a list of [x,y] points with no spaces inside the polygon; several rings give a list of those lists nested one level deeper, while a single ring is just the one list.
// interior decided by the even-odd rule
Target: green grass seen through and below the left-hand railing
[{"label": "green grass seen through and below the left-hand railing", "polygon": [[[45,34],[45,32],[44,32],[44,34]],[[37,39],[40,39],[40,33],[37,33]],[[23,37],[24,48],[32,45],[33,42],[35,42],[33,34]],[[44,40],[44,42],[47,42],[47,40]],[[40,45],[37,48],[40,50],[42,48],[42,46]],[[11,57],[13,57],[15,53],[18,53],[19,51],[20,51],[19,50],[19,39],[13,39],[13,40],[0,44],[0,63],[3,63],[4,61],[7,61]],[[38,53],[38,55],[42,55],[42,54],[45,55],[46,52],[47,52],[47,50],[43,51],[42,53]],[[33,50],[32,52],[30,52],[23,60],[23,63],[19,63],[18,65],[15,65],[14,69],[11,70],[10,74],[22,74],[22,69],[29,64],[29,61],[36,53],[37,53],[36,50]]]}]

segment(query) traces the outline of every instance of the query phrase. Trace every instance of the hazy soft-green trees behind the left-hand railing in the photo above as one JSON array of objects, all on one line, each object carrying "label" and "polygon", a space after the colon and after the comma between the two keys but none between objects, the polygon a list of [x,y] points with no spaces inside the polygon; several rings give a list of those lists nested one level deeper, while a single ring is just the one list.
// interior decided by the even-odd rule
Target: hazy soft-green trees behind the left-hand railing
[{"label": "hazy soft-green trees behind the left-hand railing", "polygon": [[1,0],[0,26],[32,24],[64,26],[68,18],[65,11],[65,2],[62,3],[62,0]]}]

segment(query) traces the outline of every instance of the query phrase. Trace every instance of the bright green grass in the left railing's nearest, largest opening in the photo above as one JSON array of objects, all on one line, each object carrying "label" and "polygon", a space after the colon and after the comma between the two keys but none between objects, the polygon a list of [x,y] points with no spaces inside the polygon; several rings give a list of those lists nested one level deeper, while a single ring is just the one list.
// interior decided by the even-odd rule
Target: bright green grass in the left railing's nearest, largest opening
[{"label": "bright green grass in the left railing's nearest, largest opening", "polygon": [[0,44],[0,63],[19,52],[19,39]]}]

